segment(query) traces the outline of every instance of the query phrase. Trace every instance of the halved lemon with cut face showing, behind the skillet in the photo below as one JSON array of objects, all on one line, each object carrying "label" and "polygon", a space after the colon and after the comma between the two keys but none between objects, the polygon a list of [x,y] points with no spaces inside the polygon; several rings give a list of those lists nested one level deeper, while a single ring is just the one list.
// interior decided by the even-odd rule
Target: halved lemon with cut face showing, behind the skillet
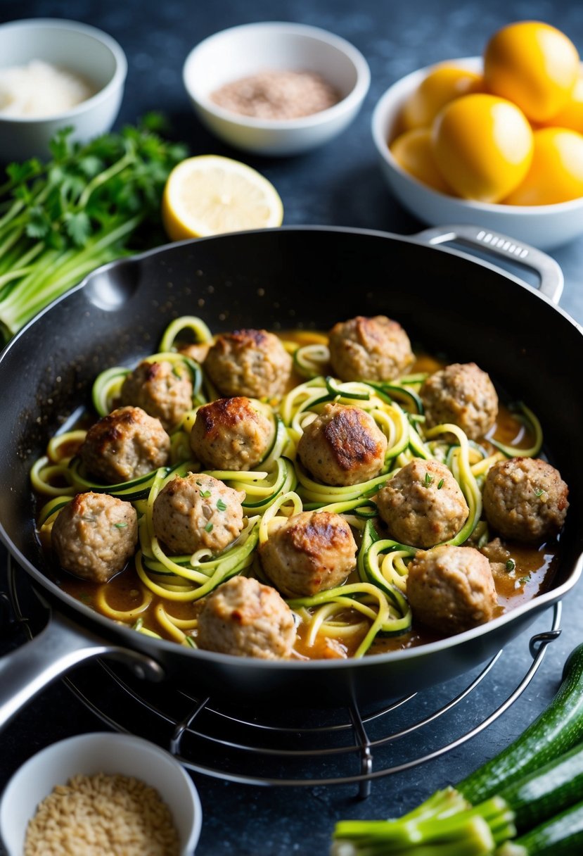
[{"label": "halved lemon with cut face showing, behind the skillet", "polygon": [[162,223],[171,241],[280,226],[283,205],[264,175],[220,155],[178,163],[164,187]]}]

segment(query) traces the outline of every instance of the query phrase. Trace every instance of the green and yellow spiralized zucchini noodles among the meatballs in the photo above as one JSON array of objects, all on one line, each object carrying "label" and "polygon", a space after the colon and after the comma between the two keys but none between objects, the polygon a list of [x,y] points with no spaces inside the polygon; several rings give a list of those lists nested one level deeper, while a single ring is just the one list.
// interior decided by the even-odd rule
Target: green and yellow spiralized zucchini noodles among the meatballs
[{"label": "green and yellow spiralized zucchini noodles among the meatballs", "polygon": [[[46,455],[35,461],[30,473],[32,488],[42,500],[38,532],[43,537],[50,536],[56,516],[77,492],[93,490],[132,502],[138,513],[136,605],[132,609],[112,605],[115,600],[109,597],[109,584],[97,586],[93,600],[103,615],[123,621],[139,633],[196,647],[194,604],[236,574],[255,575],[268,582],[257,557],[258,547],[267,541],[274,527],[291,515],[324,510],[343,515],[355,532],[357,567],[343,586],[312,597],[288,599],[287,603],[302,628],[304,651],[329,644],[350,651],[351,657],[363,657],[374,651],[375,640],[403,635],[411,628],[407,574],[416,549],[383,537],[374,502],[376,493],[415,458],[445,463],[469,508],[468,519],[449,543],[465,544],[471,537],[473,543],[484,544],[488,532],[481,519],[481,487],[486,473],[504,456],[534,456],[542,447],[539,421],[523,403],[518,405],[515,444],[492,439],[480,445],[451,424],[428,430],[419,395],[427,373],[409,374],[390,383],[342,382],[329,373],[326,337],[314,334],[310,340],[309,334],[303,334],[285,342],[299,382],[280,401],[257,402],[274,420],[274,440],[261,463],[253,471],[202,470],[191,459],[190,433],[198,408],[218,394],[203,367],[180,352],[180,339],[185,335],[189,342],[212,342],[212,333],[202,319],[176,318],[163,332],[156,353],[143,358],[150,362],[180,362],[192,381],[192,407],[170,434],[168,466],[121,484],[99,484],[85,473],[77,455],[85,439],[85,431],[79,428],[51,437]],[[117,406],[121,385],[132,367],[114,366],[96,377],[91,389],[90,417],[103,417]],[[298,461],[297,443],[303,431],[328,402],[362,408],[385,434],[385,460],[374,478],[344,487],[321,484]],[[525,436],[532,437],[528,448],[524,448]],[[244,529],[219,555],[198,550],[192,556],[172,556],[156,538],[154,502],[170,479],[197,472],[208,473],[244,492]]]}]

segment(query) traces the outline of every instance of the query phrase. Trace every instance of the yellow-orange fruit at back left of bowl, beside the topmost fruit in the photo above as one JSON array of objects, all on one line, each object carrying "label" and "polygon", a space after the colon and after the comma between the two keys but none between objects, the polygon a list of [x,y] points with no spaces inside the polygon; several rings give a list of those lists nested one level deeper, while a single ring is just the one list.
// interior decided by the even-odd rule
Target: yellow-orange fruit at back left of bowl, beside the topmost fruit
[{"label": "yellow-orange fruit at back left of bowl, beside the topmost fruit", "polygon": [[432,68],[403,104],[403,130],[428,128],[433,119],[453,98],[483,91],[481,74],[444,62]]}]

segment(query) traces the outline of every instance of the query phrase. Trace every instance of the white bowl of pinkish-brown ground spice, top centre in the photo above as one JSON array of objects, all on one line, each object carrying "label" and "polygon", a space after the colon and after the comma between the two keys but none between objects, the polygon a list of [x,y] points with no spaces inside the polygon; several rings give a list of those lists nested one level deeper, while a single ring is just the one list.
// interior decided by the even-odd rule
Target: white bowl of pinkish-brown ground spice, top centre
[{"label": "white bowl of pinkish-brown ground spice, top centre", "polygon": [[196,115],[244,152],[296,155],[338,136],[362,107],[368,62],[319,27],[263,21],[203,39],[183,81]]}]

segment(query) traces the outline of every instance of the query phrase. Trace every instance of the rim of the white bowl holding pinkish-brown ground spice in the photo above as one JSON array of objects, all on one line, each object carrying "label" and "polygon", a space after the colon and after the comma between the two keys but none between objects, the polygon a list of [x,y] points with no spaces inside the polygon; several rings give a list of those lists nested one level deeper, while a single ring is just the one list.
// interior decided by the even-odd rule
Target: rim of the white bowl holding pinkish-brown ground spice
[{"label": "rim of the white bowl holding pinkish-brown ground spice", "polygon": [[300,116],[297,119],[258,119],[255,116],[245,116],[242,113],[235,113],[233,110],[225,110],[219,104],[215,104],[214,101],[203,94],[197,95],[197,101],[199,101],[206,110],[215,113],[216,116],[220,116],[228,122],[236,122],[246,128],[273,128],[274,130],[312,128],[315,125],[321,125],[325,122],[329,122],[333,116],[336,116],[338,113],[344,113],[344,110],[350,109],[353,104],[357,104],[362,101],[362,98],[367,94],[368,87],[370,86],[370,68],[368,67],[368,62],[362,55],[361,51],[359,51],[355,45],[351,45],[350,42],[343,39],[342,36],[330,33],[321,27],[312,27],[309,24],[295,24],[291,21],[260,21],[251,24],[239,24],[236,27],[228,27],[227,30],[221,30],[218,33],[213,33],[206,39],[203,39],[202,42],[199,42],[198,45],[195,45],[195,47],[192,48],[191,52],[185,59],[182,78],[186,91],[191,93],[191,86],[189,86],[188,80],[189,65],[193,62],[194,56],[199,48],[212,45],[213,41],[219,41],[227,33],[244,33],[250,32],[250,30],[265,30],[266,32],[273,30],[274,32],[285,34],[289,33],[291,35],[309,36],[312,39],[320,40],[321,42],[325,42],[327,45],[331,45],[343,53],[344,56],[346,56],[354,65],[356,71],[356,83],[350,92],[345,95],[344,98],[341,98],[337,104],[333,104],[332,107],[327,107],[326,110],[311,113],[309,116]]}]

